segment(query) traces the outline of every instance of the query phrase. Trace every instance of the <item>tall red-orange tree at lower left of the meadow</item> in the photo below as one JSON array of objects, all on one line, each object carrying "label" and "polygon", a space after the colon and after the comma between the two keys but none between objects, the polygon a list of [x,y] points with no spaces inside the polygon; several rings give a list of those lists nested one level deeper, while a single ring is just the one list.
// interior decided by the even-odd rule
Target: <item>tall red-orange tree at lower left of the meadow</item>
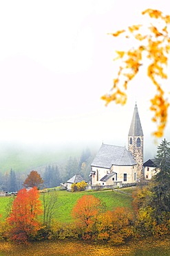
[{"label": "tall red-orange tree at lower left of the meadow", "polygon": [[10,239],[18,243],[25,243],[31,235],[36,235],[40,228],[38,217],[43,214],[39,192],[37,188],[19,190],[12,204],[12,212],[7,222],[11,229]]}]

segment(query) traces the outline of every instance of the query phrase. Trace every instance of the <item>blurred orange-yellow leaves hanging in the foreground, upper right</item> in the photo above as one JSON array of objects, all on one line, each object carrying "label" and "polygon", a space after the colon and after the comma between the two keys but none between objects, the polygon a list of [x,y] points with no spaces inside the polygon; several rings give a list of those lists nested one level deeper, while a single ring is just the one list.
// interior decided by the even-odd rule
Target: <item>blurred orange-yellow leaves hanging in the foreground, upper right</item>
[{"label": "blurred orange-yellow leaves hanging in the foreground, upper right", "polygon": [[[130,26],[127,30],[119,30],[116,33],[109,33],[114,37],[125,35],[134,37],[140,44],[136,48],[131,48],[129,51],[116,51],[118,57],[115,60],[122,60],[122,65],[119,67],[118,76],[114,79],[113,86],[109,93],[103,95],[102,99],[106,104],[114,101],[118,104],[125,104],[127,101],[128,83],[136,76],[143,65],[145,57],[149,59],[147,67],[147,75],[156,86],[156,95],[151,99],[150,110],[153,111],[153,122],[157,123],[157,130],[153,132],[153,136],[162,137],[164,127],[167,124],[169,101],[164,97],[164,90],[160,84],[160,80],[167,79],[167,73],[164,71],[168,64],[168,55],[170,50],[170,37],[168,25],[170,24],[170,16],[163,15],[160,10],[147,9],[142,12],[142,15],[148,14],[151,18],[159,19],[160,27],[150,24],[149,33],[142,35],[140,30],[142,25]],[[162,25],[162,26],[161,26]],[[147,56],[146,56],[147,53]]]}]

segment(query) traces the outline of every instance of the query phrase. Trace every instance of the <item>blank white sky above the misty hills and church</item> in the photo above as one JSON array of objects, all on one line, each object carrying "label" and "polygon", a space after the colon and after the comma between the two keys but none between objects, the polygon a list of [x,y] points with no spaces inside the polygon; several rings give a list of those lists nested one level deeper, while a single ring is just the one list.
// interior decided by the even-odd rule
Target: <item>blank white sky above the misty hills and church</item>
[{"label": "blank white sky above the misty hills and church", "polygon": [[167,0],[1,0],[0,141],[127,145],[137,101],[145,145],[153,145],[145,72],[129,84],[125,107],[100,100],[118,68],[114,51],[127,46],[107,33],[145,23],[147,8],[170,13]]}]

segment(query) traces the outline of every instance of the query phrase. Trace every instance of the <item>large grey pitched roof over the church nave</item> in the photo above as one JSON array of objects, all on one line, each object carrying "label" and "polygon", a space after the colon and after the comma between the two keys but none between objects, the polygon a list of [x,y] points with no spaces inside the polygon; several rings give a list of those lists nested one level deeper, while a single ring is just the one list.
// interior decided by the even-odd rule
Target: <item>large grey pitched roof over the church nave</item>
[{"label": "large grey pitched roof over the church nave", "polygon": [[111,165],[136,165],[136,161],[125,147],[103,144],[92,161],[92,166],[110,168]]}]

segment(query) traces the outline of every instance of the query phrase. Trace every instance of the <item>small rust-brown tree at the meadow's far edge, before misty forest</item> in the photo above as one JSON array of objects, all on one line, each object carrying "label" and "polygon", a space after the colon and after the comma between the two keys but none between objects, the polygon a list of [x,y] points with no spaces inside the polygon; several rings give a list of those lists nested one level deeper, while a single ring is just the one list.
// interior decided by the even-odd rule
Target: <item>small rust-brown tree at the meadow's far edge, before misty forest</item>
[{"label": "small rust-brown tree at the meadow's far edge, before misty forest", "polygon": [[40,185],[42,185],[44,183],[43,179],[41,178],[40,174],[36,171],[32,171],[30,172],[30,174],[28,174],[27,179],[25,179],[23,185],[25,188],[33,188],[33,187],[39,187]]}]

